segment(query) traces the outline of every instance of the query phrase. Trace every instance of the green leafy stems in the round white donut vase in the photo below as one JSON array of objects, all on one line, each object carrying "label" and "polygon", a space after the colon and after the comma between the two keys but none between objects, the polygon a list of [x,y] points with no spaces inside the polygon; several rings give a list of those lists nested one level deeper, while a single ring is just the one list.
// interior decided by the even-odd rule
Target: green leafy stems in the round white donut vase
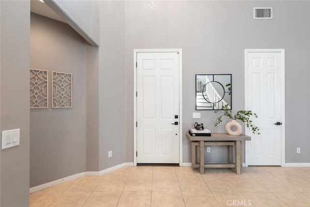
[{"label": "green leafy stems in the round white donut vase", "polygon": [[217,117],[217,120],[215,121],[214,126],[217,126],[218,124],[220,124],[222,122],[222,117],[223,116],[227,116],[230,119],[233,119],[233,120],[239,119],[242,122],[244,122],[246,124],[246,127],[250,128],[252,130],[253,134],[255,134],[255,133],[256,134],[261,134],[259,132],[260,128],[255,126],[252,123],[252,120],[250,119],[251,116],[257,118],[258,116],[257,116],[256,113],[252,113],[252,111],[240,110],[240,111],[237,111],[237,113],[235,115],[233,115],[232,110],[229,109],[229,105],[228,104],[223,106],[222,110],[225,110],[225,111],[224,112],[223,111],[214,111],[215,113],[218,113],[218,112],[223,113],[222,115]]}]

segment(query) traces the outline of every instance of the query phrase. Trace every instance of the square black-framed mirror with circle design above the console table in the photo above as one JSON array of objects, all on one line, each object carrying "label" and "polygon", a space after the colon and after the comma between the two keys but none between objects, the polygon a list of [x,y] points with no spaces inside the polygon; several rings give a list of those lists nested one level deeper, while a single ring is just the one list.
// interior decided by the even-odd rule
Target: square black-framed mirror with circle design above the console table
[{"label": "square black-framed mirror with circle design above the console table", "polygon": [[232,109],[232,74],[196,75],[196,110]]}]

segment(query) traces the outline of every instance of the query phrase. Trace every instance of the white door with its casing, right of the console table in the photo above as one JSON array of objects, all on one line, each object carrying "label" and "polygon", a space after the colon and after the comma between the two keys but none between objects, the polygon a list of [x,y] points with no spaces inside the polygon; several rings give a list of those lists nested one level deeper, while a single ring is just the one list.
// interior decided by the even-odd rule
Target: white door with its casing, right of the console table
[{"label": "white door with its casing, right of the console table", "polygon": [[261,133],[254,135],[245,130],[251,136],[246,142],[246,165],[281,165],[283,53],[246,51],[246,108],[258,115],[253,123]]}]

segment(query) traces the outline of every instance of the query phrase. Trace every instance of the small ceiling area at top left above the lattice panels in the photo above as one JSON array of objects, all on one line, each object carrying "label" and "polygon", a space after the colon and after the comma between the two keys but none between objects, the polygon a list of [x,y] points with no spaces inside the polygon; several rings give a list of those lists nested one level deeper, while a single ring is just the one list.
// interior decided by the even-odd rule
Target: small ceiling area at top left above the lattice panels
[{"label": "small ceiling area at top left above the lattice panels", "polygon": [[60,16],[58,16],[51,8],[40,0],[31,0],[30,11],[38,15],[46,16],[58,21],[66,23]]}]

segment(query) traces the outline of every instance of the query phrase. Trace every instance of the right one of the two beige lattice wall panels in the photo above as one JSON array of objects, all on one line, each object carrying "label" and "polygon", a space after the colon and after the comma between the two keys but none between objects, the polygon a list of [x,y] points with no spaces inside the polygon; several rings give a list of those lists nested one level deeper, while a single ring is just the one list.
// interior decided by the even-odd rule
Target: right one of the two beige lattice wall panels
[{"label": "right one of the two beige lattice wall panels", "polygon": [[72,108],[72,74],[52,71],[52,108]]}]

